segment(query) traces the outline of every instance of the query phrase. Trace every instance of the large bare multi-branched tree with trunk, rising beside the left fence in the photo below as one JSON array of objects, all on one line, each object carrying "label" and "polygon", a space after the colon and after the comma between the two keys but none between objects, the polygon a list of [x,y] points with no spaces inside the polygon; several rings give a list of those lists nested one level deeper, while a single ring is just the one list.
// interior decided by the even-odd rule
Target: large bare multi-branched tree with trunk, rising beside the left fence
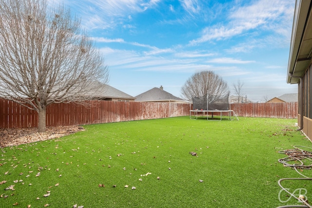
[{"label": "large bare multi-branched tree with trunk, rising beside the left fence", "polygon": [[36,110],[39,132],[47,106],[89,99],[94,81],[108,81],[103,56],[63,5],[1,0],[0,48],[0,96]]}]

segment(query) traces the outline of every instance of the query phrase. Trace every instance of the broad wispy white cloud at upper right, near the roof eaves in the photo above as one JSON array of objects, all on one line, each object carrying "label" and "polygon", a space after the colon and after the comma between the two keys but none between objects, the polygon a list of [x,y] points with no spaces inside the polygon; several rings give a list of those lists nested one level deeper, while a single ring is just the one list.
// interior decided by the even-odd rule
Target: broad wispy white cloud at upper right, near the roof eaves
[{"label": "broad wispy white cloud at upper right, near the roof eaves", "polygon": [[[211,40],[231,38],[250,30],[268,30],[283,34],[289,14],[293,11],[293,2],[285,0],[259,0],[254,4],[233,7],[225,19],[229,22],[213,27],[206,27],[201,37],[191,40],[190,45],[197,45]],[[285,23],[286,22],[286,23]]]}]

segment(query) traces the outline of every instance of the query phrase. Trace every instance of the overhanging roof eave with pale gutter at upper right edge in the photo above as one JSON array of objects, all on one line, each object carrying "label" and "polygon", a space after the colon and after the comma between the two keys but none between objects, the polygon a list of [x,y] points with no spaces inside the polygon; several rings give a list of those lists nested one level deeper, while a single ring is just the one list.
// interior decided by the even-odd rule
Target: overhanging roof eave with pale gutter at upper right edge
[{"label": "overhanging roof eave with pale gutter at upper right edge", "polygon": [[298,78],[303,76],[311,63],[312,57],[312,14],[311,0],[296,0],[290,55],[287,70],[287,83],[299,83]]}]

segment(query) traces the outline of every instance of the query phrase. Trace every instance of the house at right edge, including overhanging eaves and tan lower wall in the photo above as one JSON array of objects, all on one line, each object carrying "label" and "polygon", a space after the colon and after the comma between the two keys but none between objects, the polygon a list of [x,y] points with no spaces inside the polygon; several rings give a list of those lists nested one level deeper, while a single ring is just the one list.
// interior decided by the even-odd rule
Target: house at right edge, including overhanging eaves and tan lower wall
[{"label": "house at right edge, including overhanging eaves and tan lower wall", "polygon": [[296,0],[287,83],[298,85],[298,130],[312,140],[312,0]]}]

